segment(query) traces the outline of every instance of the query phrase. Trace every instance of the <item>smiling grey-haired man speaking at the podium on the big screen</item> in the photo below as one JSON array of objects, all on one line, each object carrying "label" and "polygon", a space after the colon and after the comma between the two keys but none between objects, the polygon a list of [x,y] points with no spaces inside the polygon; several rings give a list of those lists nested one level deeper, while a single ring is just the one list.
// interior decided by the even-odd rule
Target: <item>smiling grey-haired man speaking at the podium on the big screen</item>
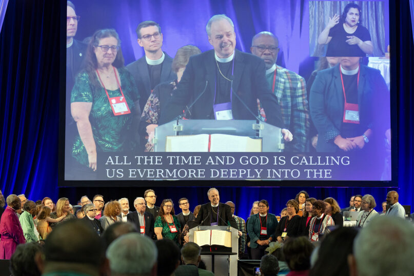
[{"label": "smiling grey-haired man speaking at the podium on the big screen", "polygon": [[[266,122],[283,128],[277,97],[266,81],[265,63],[257,56],[235,50],[231,19],[224,14],[214,15],[206,30],[214,49],[190,57],[174,96],[161,111],[160,124],[173,120],[200,96],[190,110],[191,119],[255,120],[259,99]],[[290,131],[282,132],[286,141],[292,140]]]}]

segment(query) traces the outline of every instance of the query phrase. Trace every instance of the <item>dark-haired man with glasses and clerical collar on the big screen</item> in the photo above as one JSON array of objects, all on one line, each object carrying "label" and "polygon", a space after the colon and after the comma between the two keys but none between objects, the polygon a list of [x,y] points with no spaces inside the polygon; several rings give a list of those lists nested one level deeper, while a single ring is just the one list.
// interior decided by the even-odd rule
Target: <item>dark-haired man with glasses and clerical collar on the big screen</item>
[{"label": "dark-haired man with glasses and clerical collar on the big screen", "polygon": [[163,33],[158,23],[141,22],[136,27],[138,44],[144,48],[145,56],[127,65],[140,92],[140,108],[144,109],[154,87],[172,81],[177,75],[171,70],[172,58],[162,51]]}]

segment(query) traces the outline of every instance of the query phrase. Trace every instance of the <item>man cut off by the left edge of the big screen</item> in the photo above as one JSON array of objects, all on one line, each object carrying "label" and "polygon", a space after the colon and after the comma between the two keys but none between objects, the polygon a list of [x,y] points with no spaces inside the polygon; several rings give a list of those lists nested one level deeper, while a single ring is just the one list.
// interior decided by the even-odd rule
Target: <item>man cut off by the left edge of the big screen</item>
[{"label": "man cut off by the left edge of the big screen", "polygon": [[[67,2],[66,13],[66,158],[71,157],[71,147],[73,140],[77,134],[76,123],[70,113],[70,94],[75,84],[77,73],[81,70],[81,65],[86,53],[86,44],[75,40],[73,37],[76,34],[77,22],[80,16],[76,15],[75,6],[72,2]],[[68,163],[69,164],[69,163]]]}]

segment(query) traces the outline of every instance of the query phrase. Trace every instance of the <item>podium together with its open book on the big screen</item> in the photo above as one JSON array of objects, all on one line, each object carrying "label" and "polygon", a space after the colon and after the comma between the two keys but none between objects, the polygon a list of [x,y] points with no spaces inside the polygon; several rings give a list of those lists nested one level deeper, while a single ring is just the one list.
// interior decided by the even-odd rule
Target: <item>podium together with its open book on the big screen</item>
[{"label": "podium together with its open book on the big screen", "polygon": [[178,120],[155,128],[154,151],[280,152],[282,129],[253,120]]}]

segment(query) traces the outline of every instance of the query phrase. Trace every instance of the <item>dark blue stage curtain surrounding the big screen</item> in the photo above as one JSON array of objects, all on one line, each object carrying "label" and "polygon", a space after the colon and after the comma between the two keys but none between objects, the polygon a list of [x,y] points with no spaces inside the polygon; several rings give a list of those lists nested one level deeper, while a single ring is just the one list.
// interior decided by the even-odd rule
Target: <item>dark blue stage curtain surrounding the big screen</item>
[{"label": "dark blue stage curtain surrounding the big screen", "polygon": [[[142,1],[140,3],[144,5],[150,2]],[[211,7],[217,6],[216,3],[211,1]],[[263,3],[263,5],[267,5],[273,1]],[[285,3],[285,1],[277,1],[277,3]],[[295,7],[302,6],[302,4],[302,1],[292,1],[290,3],[292,12],[295,13],[297,11]],[[247,6],[249,5],[251,4]],[[412,156],[414,152],[412,145],[414,145],[414,136],[412,120],[414,109],[412,108],[411,91],[413,91],[414,47],[411,25],[407,24],[410,16],[408,2],[398,2],[393,5],[398,10],[396,26],[390,29],[390,32],[395,33],[397,40],[395,44],[396,60],[392,65],[398,70],[396,78],[392,79],[397,84],[397,89],[392,92],[397,94],[394,104],[398,122],[397,126],[393,126],[393,135],[398,137],[399,142],[399,166],[395,169],[398,170],[400,202],[409,205],[413,202],[414,168]],[[0,122],[2,123],[0,129],[2,137],[0,187],[6,195],[25,193],[32,200],[42,199],[44,196],[50,196],[53,200],[57,200],[58,196],[65,195],[72,204],[76,204],[75,201],[83,194],[93,196],[95,193],[101,193],[105,196],[106,201],[124,196],[128,196],[132,201],[136,196],[142,196],[146,188],[57,188],[58,93],[60,86],[57,72],[59,70],[60,36],[59,26],[56,22],[58,22],[61,13],[59,6],[59,1],[52,0],[13,0],[9,2],[7,7],[4,26],[0,34]],[[142,10],[141,12],[144,13]],[[226,9],[223,9],[222,12],[229,14]],[[119,20],[121,19],[119,18]],[[265,18],[263,18],[263,22],[267,22]],[[258,24],[263,22],[259,21]],[[243,24],[247,23],[243,22]],[[243,27],[239,26],[239,28],[243,30]],[[254,30],[250,32],[263,29],[266,29],[266,25],[263,25],[262,28],[255,26]],[[202,34],[203,41],[206,40],[204,35],[205,33]],[[248,51],[246,45],[249,46],[247,41],[244,50]],[[117,183],[117,185],[119,184]],[[157,184],[157,182],[146,183],[148,186]],[[301,184],[304,183],[297,185]],[[90,183],[85,183],[85,185],[90,185]],[[171,185],[175,186],[176,182],[171,182]],[[175,211],[180,212],[177,201],[183,196],[190,200],[191,209],[196,203],[207,202],[208,188],[196,188],[198,182],[193,182],[192,185],[194,187],[191,188],[153,187],[159,195],[157,204],[164,198],[172,198],[175,203]],[[223,182],[215,182],[211,185],[220,187]],[[231,185],[237,186],[233,182]],[[249,185],[259,186],[269,185],[269,183],[249,182]],[[389,190],[387,188],[317,187],[219,188],[222,202],[233,201],[237,208],[236,214],[243,218],[247,218],[251,203],[260,199],[267,199],[270,202],[271,212],[279,213],[286,201],[294,198],[295,194],[302,189],[318,199],[332,196],[339,201],[341,207],[348,206],[350,195],[357,193],[372,194],[380,206]]]}]

